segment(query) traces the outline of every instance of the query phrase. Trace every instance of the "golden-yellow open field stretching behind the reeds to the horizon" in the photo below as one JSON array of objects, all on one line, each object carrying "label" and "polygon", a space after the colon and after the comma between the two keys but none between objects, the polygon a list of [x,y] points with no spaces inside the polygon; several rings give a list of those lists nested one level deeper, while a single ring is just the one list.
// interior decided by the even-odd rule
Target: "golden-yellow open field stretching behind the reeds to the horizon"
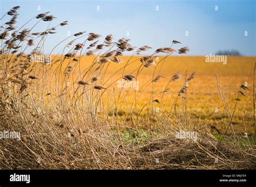
[{"label": "golden-yellow open field stretching behind the reeds to the horizon", "polygon": [[[91,63],[97,61],[95,56],[82,56],[79,58],[79,62],[66,59],[61,64],[61,68],[58,62],[54,63],[61,57],[53,56],[53,63],[46,66],[49,67],[49,70],[47,70],[48,68],[45,68],[48,75],[48,85],[49,88],[52,88],[50,85],[55,84],[57,87],[59,80],[65,80],[60,83],[63,89],[68,90],[65,89],[66,85],[72,85],[72,89],[69,91],[73,92],[73,90],[79,87],[77,84],[79,80],[90,82],[92,77],[102,77],[102,80],[91,83],[91,86],[104,85],[107,87],[102,95],[102,105],[104,105],[105,110],[100,112],[104,112],[111,116],[114,110],[114,105],[117,104],[117,112],[120,114],[120,119],[124,119],[125,121],[123,121],[123,123],[129,125],[132,118],[129,115],[129,111],[150,114],[153,113],[154,109],[158,115],[163,114],[163,111],[165,111],[170,113],[172,118],[174,118],[173,103],[179,90],[185,83],[185,73],[187,72],[188,77],[194,71],[196,72],[196,77],[189,83],[187,91],[188,116],[193,120],[193,124],[196,123],[198,126],[202,124],[217,125],[217,127],[224,130],[226,127],[223,124],[223,120],[227,120],[227,115],[217,86],[216,74],[218,74],[219,88],[221,92],[223,92],[222,94],[226,106],[228,106],[231,111],[234,108],[234,99],[237,98],[240,85],[245,84],[245,82],[247,83],[250,91],[244,92],[246,95],[245,97],[240,96],[242,101],[236,106],[237,110],[234,113],[233,119],[235,122],[239,123],[239,125],[237,125],[238,132],[242,134],[247,132],[249,135],[254,133],[252,89],[254,62],[256,62],[256,57],[228,56],[227,64],[223,64],[213,62],[206,63],[205,56],[169,56],[165,60],[162,60],[164,58],[163,56],[159,56],[159,59],[156,60],[156,66],[144,68],[137,76],[138,67],[141,65],[141,62],[139,61],[141,57],[142,56],[122,56],[123,63],[117,64],[110,62],[102,71],[92,73],[89,77],[86,75],[83,77],[86,69],[91,66]],[[65,78],[64,74],[68,66],[72,66],[73,69],[69,78]],[[95,67],[97,66],[98,63],[96,63]],[[125,69],[123,69],[124,66]],[[41,70],[42,68],[39,65],[37,75],[40,74],[39,72]],[[55,75],[56,70],[60,72],[59,76]],[[178,71],[182,74],[180,80],[167,85],[172,75]],[[122,76],[127,74],[137,76],[137,90],[134,88],[118,88],[117,81],[122,81]],[[154,86],[152,88],[153,77],[156,77],[157,75],[162,75],[165,78],[160,78],[158,82],[153,83]],[[90,85],[88,87],[90,88]],[[164,94],[163,98],[161,98],[163,95],[161,92],[166,88],[169,89],[169,91]],[[46,91],[44,93],[46,93]],[[58,96],[62,95],[64,92],[53,89],[51,90],[51,93],[52,95]],[[150,102],[152,100],[152,93],[154,95],[153,98],[160,101],[160,103],[153,103],[153,106]],[[182,100],[182,98],[178,99],[176,108],[180,115],[183,113],[181,106]],[[218,108],[218,111],[216,111],[216,107]],[[140,111],[142,108],[143,110]]]}]

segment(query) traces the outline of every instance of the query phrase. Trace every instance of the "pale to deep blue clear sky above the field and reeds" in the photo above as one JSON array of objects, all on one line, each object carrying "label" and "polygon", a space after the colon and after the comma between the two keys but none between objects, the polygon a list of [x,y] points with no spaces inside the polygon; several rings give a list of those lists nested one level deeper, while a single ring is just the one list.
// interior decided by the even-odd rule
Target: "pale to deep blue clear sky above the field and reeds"
[{"label": "pale to deep blue clear sky above the field and reeds", "polygon": [[[57,19],[50,27],[68,20],[69,25],[59,27],[57,34],[48,37],[45,49],[50,52],[54,45],[67,37],[67,33],[95,32],[103,36],[113,34],[118,40],[127,31],[133,46],[149,45],[153,49],[168,47],[173,39],[190,47],[189,55],[214,54],[219,50],[239,51],[242,55],[256,55],[256,1],[254,0],[0,0],[1,16],[12,6],[19,5],[17,27],[39,13],[51,11]],[[41,10],[38,10],[38,6]],[[99,10],[97,10],[97,6]],[[157,11],[157,7],[159,10]],[[218,11],[215,11],[218,6]],[[3,25],[8,19],[1,21]],[[9,17],[10,18],[10,17]],[[31,21],[25,28],[31,27]],[[42,32],[49,22],[37,25],[33,32]],[[187,31],[187,32],[186,32]],[[248,35],[245,36],[245,31]],[[188,33],[188,35],[186,35]],[[82,40],[80,40],[82,41]],[[60,46],[61,47],[61,46]],[[59,48],[60,49],[60,48]],[[151,52],[147,52],[150,54]],[[56,50],[54,53],[58,53]],[[146,54],[146,53],[144,53]]]}]

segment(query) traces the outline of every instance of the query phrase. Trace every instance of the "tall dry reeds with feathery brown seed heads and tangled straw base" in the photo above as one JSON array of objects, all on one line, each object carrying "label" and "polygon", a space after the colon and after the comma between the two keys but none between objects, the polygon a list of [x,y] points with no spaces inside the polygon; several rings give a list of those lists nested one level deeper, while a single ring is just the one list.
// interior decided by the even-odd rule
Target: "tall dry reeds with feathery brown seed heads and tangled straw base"
[{"label": "tall dry reeds with feathery brown seed heads and tangled straw base", "polygon": [[[45,56],[43,46],[46,38],[55,34],[52,31],[58,26],[68,25],[68,21],[40,32],[34,32],[34,27],[23,28],[25,25],[16,30],[14,25],[18,9],[19,6],[15,6],[6,13],[12,17],[5,27],[1,27],[0,124],[1,130],[21,132],[21,139],[0,139],[0,169],[256,168],[255,146],[242,143],[234,133],[238,124],[234,124],[234,112],[230,112],[225,102],[230,120],[228,123],[224,121],[223,125],[227,126],[225,133],[216,126],[203,124],[204,128],[199,128],[197,121],[193,123],[190,119],[187,82],[196,77],[195,73],[188,78],[185,74],[185,85],[172,104],[175,116],[170,115],[172,109],[164,109],[165,93],[170,91],[172,82],[180,80],[181,73],[172,77],[161,76],[161,64],[173,53],[187,53],[188,47],[177,51],[171,47],[159,48],[152,55],[137,59],[142,62],[140,66],[125,75],[125,68],[135,62],[131,59],[126,61],[124,67],[117,70],[117,73],[122,72],[118,80],[123,78],[129,83],[139,81],[144,68],[154,69],[152,78],[140,87],[140,93],[134,91],[136,97],[129,103],[127,97],[131,88],[116,89],[118,80],[112,81],[114,75],[106,77],[106,70],[111,68],[112,62],[123,62],[124,52],[141,54],[151,49],[150,46],[137,49],[126,38],[114,42],[111,34],[105,37],[103,44],[98,44],[101,35],[89,33],[82,40],[85,32],[78,32],[59,42],[67,44],[60,58],[52,59],[57,66],[53,69],[51,64],[45,61],[36,63],[32,57]],[[33,18],[39,19],[36,25],[40,21],[55,20],[56,17],[48,13]],[[86,43],[90,41],[91,44]],[[76,45],[72,46],[74,42]],[[173,40],[172,44],[181,43]],[[29,54],[26,51],[28,48],[31,49]],[[158,53],[166,56],[155,61],[155,54]],[[80,67],[84,63],[80,60],[83,55],[94,56],[86,69]],[[158,67],[160,70],[157,73]],[[154,88],[162,81],[159,81],[161,78],[168,81],[165,90],[158,93]],[[143,107],[138,106],[138,99],[150,85],[151,97]],[[249,91],[245,85],[241,85],[241,89],[235,99],[236,105],[241,102],[239,96],[245,95],[243,91]],[[109,99],[107,102],[103,99],[104,95]],[[181,110],[177,105],[179,99],[182,100]],[[154,105],[161,107],[161,115],[156,115]],[[121,110],[122,106],[127,108],[127,113]],[[124,116],[125,120],[120,116]],[[127,123],[128,117],[130,123]],[[216,139],[210,130],[223,136]],[[179,139],[175,136],[177,131],[194,131],[198,137],[196,140]],[[215,163],[216,159],[218,163]]]}]

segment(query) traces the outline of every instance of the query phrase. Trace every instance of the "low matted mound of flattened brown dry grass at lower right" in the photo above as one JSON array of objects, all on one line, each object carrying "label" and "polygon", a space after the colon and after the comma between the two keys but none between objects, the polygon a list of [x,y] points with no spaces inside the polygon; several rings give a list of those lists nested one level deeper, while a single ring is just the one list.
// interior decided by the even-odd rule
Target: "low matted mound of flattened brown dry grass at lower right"
[{"label": "low matted mound of flattened brown dry grass at lower right", "polygon": [[[140,159],[133,161],[138,169],[252,169],[256,167],[255,157],[245,154],[242,156],[244,159],[241,160],[239,154],[242,150],[235,143],[229,142],[216,150],[217,145],[218,141],[211,137],[193,141],[168,136],[139,147],[138,149],[142,152]],[[251,152],[255,152],[255,147],[250,149]],[[218,156],[215,155],[216,152],[219,153]],[[147,167],[146,161],[152,163],[152,166]]]}]

